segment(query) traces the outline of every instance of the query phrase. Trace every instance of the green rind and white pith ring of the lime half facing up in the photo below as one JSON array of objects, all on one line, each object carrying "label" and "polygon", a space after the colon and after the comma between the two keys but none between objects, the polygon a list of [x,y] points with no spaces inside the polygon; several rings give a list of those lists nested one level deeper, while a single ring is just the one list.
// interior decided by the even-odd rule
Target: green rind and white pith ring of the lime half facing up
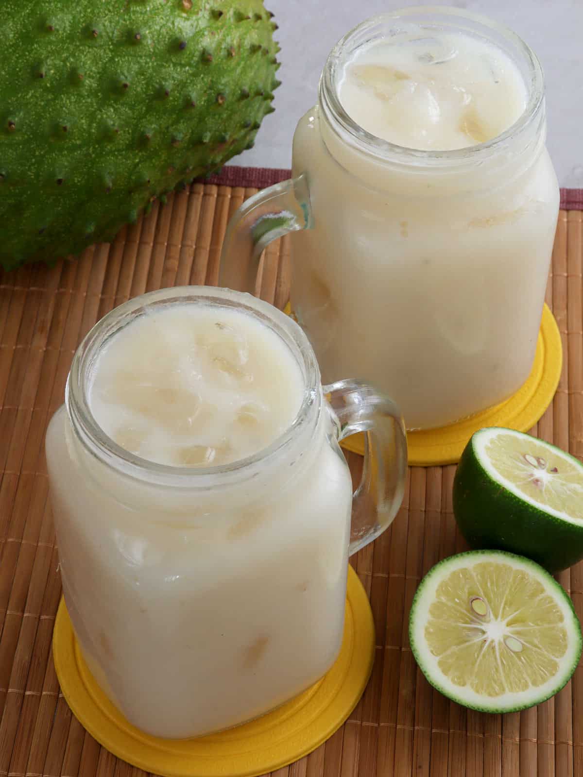
[{"label": "green rind and white pith ring of the lime half facing up", "polygon": [[[423,633],[421,633],[421,635],[416,633],[417,628],[424,627],[424,624],[420,624],[418,622],[420,619],[418,617],[418,611],[420,610],[421,602],[424,601],[424,594],[428,592],[428,588],[433,583],[435,577],[441,577],[441,573],[445,573],[448,567],[451,567],[457,559],[466,557],[467,559],[475,560],[476,563],[478,563],[479,561],[486,561],[487,559],[491,559],[492,556],[504,559],[508,563],[511,563],[513,566],[516,563],[527,566],[529,570],[532,570],[532,572],[536,574],[536,577],[538,577],[539,580],[543,582],[543,584],[546,584],[547,589],[555,592],[557,594],[557,598],[567,605],[567,611],[571,612],[571,639],[577,640],[577,645],[575,646],[574,651],[571,653],[571,660],[568,670],[557,675],[557,684],[553,685],[552,690],[550,690],[550,692],[543,692],[540,695],[536,695],[536,690],[535,692],[530,692],[531,698],[524,702],[519,702],[518,698],[522,697],[522,699],[524,699],[526,695],[525,692],[516,693],[515,697],[517,697],[517,702],[515,704],[500,704],[497,699],[492,699],[491,702],[487,702],[487,700],[484,699],[484,704],[470,703],[468,699],[464,698],[462,688],[460,688],[459,693],[452,692],[451,689],[447,688],[442,682],[438,680],[438,678],[435,677],[435,674],[432,674],[431,671],[428,670],[427,662],[424,657],[424,650],[420,647],[420,643],[424,643],[424,636]],[[539,566],[539,564],[533,562],[532,559],[525,558],[525,556],[518,556],[515,553],[509,553],[504,550],[468,550],[463,553],[457,553],[455,556],[449,556],[446,559],[442,559],[442,561],[439,561],[437,564],[435,564],[435,566],[431,567],[431,570],[429,570],[421,580],[421,583],[415,592],[410,608],[409,643],[414,658],[417,661],[417,666],[421,669],[425,679],[430,685],[433,686],[433,688],[442,693],[448,699],[451,699],[452,702],[456,702],[457,704],[467,707],[468,709],[474,709],[480,713],[500,714],[517,713],[522,709],[529,709],[529,707],[546,702],[547,699],[550,699],[556,695],[561,690],[561,688],[564,688],[564,686],[567,685],[567,682],[574,674],[574,671],[577,668],[581,658],[583,636],[581,636],[581,625],[579,623],[579,619],[577,613],[575,612],[571,598],[567,595],[567,592],[564,590],[564,588],[559,583],[557,583],[557,580],[555,580],[552,575],[550,575],[550,573],[544,570],[542,566]]]}]

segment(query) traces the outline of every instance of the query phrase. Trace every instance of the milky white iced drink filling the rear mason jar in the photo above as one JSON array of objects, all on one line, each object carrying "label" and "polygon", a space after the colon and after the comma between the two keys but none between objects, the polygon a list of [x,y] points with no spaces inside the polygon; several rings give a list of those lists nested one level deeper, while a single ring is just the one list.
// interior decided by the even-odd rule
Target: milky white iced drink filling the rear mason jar
[{"label": "milky white iced drink filling the rear mason jar", "polygon": [[357,28],[294,138],[313,223],[291,241],[292,308],[323,381],[371,382],[408,428],[526,380],[559,204],[532,52],[509,31],[448,25]]}]

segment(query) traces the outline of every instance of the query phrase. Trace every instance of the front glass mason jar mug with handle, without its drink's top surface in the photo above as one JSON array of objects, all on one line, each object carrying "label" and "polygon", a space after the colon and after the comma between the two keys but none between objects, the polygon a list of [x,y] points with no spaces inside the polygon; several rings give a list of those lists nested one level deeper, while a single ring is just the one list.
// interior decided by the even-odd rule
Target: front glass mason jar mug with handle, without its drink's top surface
[{"label": "front glass mason jar mug with handle, without its drink's top surface", "polygon": [[[185,304],[243,311],[302,374],[291,426],[231,464],[146,461],[92,413],[106,344],[148,312]],[[353,495],[338,441],[358,431],[369,447]],[[326,673],[343,634],[348,555],[393,520],[407,469],[393,402],[352,381],[322,388],[292,319],[209,287],[145,294],[99,321],[73,358],[46,448],[63,591],[89,669],[127,720],[176,738],[253,719]]]}]

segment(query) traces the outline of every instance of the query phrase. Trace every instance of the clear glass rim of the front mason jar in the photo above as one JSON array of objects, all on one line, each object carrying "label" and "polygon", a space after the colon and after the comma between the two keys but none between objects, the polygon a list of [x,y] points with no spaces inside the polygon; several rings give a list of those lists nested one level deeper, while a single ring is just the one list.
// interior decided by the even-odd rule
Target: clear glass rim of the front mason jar
[{"label": "clear glass rim of the front mason jar", "polygon": [[[89,406],[90,372],[99,351],[120,329],[143,315],[146,309],[163,305],[199,302],[236,308],[269,326],[281,336],[298,359],[303,372],[304,393],[295,419],[271,444],[229,464],[181,467],[160,464],[127,451],[99,426]],[[244,479],[256,465],[264,465],[293,443],[302,429],[315,427],[321,406],[319,367],[309,340],[300,326],[269,303],[232,289],[210,286],[178,286],[150,291],[113,308],[89,330],[75,351],[65,386],[65,409],[77,437],[101,462],[134,479],[164,486],[208,488]]]}]

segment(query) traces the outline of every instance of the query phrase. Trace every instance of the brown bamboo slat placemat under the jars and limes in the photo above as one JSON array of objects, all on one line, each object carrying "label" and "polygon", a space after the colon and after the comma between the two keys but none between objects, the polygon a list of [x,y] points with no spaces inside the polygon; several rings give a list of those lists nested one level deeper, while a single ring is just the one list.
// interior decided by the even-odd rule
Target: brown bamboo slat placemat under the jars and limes
[{"label": "brown bamboo slat placemat under the jars and limes", "polygon": [[[273,183],[267,172],[263,185]],[[166,207],[155,204],[111,246],[94,246],[77,261],[0,273],[0,777],[144,775],[99,747],[59,693],[51,635],[61,583],[44,431],[62,402],[75,347],[97,319],[144,291],[215,283],[229,215],[255,192],[236,186],[239,173],[227,176],[231,186],[194,183]],[[577,197],[564,193],[563,204],[583,207]],[[533,430],[580,458],[582,217],[581,210],[560,212],[546,300],[561,331],[564,367],[553,406]],[[285,305],[288,280],[283,239],[267,249],[261,296]],[[358,476],[361,458],[349,457]],[[372,680],[344,727],[278,777],[583,777],[583,668],[554,699],[504,716],[466,711],[417,670],[407,643],[417,583],[438,559],[464,547],[452,515],[454,472],[410,469],[392,528],[352,559],[375,617]],[[581,618],[583,566],[559,579]]]}]

